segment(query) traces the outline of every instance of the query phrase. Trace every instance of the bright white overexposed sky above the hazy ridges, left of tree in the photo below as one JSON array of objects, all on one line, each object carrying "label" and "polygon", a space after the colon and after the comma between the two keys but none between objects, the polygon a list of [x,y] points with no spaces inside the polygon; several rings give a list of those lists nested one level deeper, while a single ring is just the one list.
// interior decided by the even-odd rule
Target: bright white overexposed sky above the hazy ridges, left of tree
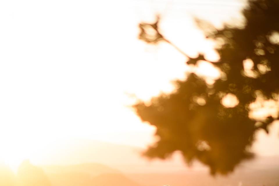
[{"label": "bright white overexposed sky above the hazy ridges, left of tree", "polygon": [[[190,56],[204,52],[214,60],[214,43],[193,17],[217,27],[241,25],[242,6],[237,0],[1,1],[0,159],[20,162],[59,139],[150,144],[155,128],[142,124],[130,105],[135,97],[171,92],[187,67],[168,44],[139,41],[137,24],[161,13],[169,40]],[[273,151],[267,154],[279,154]]]}]

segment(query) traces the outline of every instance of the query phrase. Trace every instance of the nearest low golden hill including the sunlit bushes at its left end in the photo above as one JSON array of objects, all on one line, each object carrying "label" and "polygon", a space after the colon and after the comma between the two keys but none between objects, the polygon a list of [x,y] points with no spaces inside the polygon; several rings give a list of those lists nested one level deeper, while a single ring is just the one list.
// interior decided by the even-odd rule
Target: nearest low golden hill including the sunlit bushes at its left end
[{"label": "nearest low golden hill including the sunlit bushes at its left end", "polygon": [[141,186],[117,169],[98,163],[37,167],[28,160],[15,174],[0,167],[0,186]]}]

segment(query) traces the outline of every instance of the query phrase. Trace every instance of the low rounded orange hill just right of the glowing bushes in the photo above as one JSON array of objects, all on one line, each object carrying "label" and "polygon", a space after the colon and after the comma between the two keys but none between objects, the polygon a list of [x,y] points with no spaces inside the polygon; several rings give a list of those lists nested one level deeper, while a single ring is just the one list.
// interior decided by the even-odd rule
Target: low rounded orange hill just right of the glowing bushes
[{"label": "low rounded orange hill just right of the glowing bushes", "polygon": [[140,186],[117,169],[99,163],[43,166],[51,186]]}]

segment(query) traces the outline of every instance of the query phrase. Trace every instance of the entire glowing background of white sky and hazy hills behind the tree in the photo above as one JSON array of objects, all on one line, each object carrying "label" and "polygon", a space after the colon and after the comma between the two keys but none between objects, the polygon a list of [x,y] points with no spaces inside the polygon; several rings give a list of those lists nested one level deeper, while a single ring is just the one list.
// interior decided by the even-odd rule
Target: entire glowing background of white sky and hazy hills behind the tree
[{"label": "entire glowing background of white sky and hazy hills behind the tree", "polygon": [[278,123],[269,135],[257,133],[255,160],[228,177],[213,178],[198,162],[187,167],[180,153],[164,161],[141,157],[158,139],[155,127],[142,123],[131,108],[137,99],[172,92],[172,82],[184,80],[188,69],[185,56],[171,45],[139,40],[139,23],[154,22],[160,14],[168,40],[191,57],[202,52],[216,61],[213,40],[194,18],[216,28],[224,23],[241,28],[246,3],[1,1],[0,180],[6,185],[278,185]]}]

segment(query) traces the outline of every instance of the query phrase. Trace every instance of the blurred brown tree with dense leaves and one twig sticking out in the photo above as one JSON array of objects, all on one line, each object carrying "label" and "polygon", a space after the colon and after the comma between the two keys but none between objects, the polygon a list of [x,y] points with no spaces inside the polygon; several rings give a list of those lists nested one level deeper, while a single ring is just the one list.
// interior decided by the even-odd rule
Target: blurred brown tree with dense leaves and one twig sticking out
[{"label": "blurred brown tree with dense leaves and one twig sticking out", "polygon": [[[219,62],[208,61],[220,74],[214,83],[189,73],[186,81],[176,81],[171,94],[154,97],[151,104],[133,105],[142,121],[157,128],[160,139],[146,156],[165,159],[180,151],[187,163],[199,160],[211,174],[227,174],[253,157],[249,148],[255,132],[268,133],[268,126],[278,119],[279,1],[249,0],[242,13],[244,28],[226,25],[205,33],[219,44]],[[154,24],[139,24],[139,38],[172,44],[160,33],[159,21],[160,17]],[[206,60],[203,54],[187,57],[192,66]]]}]

